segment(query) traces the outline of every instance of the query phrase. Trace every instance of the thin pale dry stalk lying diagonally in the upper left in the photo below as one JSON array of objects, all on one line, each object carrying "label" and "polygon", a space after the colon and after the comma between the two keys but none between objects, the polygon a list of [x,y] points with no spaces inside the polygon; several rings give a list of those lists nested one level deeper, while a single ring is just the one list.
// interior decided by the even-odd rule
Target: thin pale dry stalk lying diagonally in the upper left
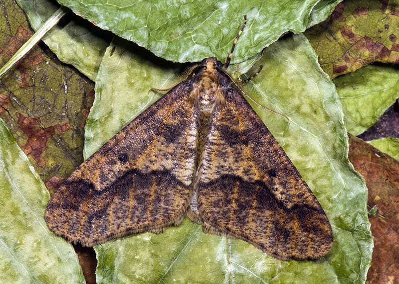
[{"label": "thin pale dry stalk lying diagonally in the upper left", "polygon": [[56,10],[47,21],[41,25],[41,27],[29,38],[15,54],[8,60],[8,62],[0,69],[0,78],[7,73],[7,71],[14,66],[23,56],[25,56],[29,50],[32,49],[36,43],[43,38],[43,36],[55,26],[59,20],[69,11],[69,8],[61,6]]}]

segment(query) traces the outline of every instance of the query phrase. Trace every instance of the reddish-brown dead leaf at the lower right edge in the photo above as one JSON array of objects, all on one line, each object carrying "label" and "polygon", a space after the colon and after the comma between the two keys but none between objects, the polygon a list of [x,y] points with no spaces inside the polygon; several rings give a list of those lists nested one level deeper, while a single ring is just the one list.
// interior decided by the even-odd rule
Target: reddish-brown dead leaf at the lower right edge
[{"label": "reddish-brown dead leaf at the lower right edge", "polygon": [[395,283],[399,279],[399,161],[349,134],[349,159],[369,189],[369,216],[374,251],[367,283]]}]

